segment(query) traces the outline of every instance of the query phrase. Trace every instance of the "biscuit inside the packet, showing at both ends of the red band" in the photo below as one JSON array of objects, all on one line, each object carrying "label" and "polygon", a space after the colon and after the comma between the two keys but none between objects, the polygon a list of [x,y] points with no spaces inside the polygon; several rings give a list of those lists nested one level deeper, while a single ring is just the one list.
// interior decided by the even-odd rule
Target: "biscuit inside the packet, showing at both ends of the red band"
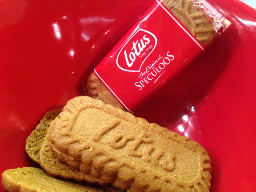
[{"label": "biscuit inside the packet, showing at both ends of the red band", "polygon": [[[200,41],[207,46],[215,35],[210,18],[191,0],[163,0],[163,4],[180,20],[181,23]],[[106,86],[92,72],[87,80],[87,95],[100,99],[114,107],[124,107],[116,100]]]}]

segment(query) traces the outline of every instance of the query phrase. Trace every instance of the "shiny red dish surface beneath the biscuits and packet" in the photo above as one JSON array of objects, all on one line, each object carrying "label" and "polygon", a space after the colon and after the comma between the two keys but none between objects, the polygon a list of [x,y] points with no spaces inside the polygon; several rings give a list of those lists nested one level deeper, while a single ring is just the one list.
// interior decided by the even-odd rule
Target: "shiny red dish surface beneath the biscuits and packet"
[{"label": "shiny red dish surface beneath the biscuits and packet", "polygon": [[[46,111],[82,94],[81,81],[153,2],[0,2],[0,173],[36,166],[26,137]],[[255,191],[256,11],[209,2],[232,25],[135,115],[202,144],[211,191]]]}]

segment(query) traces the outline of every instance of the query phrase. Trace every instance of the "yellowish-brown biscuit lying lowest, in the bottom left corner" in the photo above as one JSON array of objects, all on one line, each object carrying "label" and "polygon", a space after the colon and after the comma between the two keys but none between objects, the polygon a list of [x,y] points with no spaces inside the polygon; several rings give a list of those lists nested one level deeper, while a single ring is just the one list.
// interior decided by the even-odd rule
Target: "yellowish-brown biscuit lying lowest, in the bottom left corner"
[{"label": "yellowish-brown biscuit lying lowest, in the bottom left corner", "polygon": [[98,188],[74,183],[69,180],[57,179],[48,175],[45,171],[35,167],[22,167],[9,169],[2,173],[2,185],[7,191],[84,191],[103,192]]}]

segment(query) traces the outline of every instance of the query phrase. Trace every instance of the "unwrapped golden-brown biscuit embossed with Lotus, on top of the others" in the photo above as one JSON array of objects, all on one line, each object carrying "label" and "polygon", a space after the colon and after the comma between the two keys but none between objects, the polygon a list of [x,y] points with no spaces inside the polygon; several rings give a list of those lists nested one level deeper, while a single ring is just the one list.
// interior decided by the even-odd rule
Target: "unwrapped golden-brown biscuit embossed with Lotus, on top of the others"
[{"label": "unwrapped golden-brown biscuit embossed with Lotus, on top of the others", "polygon": [[209,191],[210,158],[189,138],[91,97],[75,97],[50,126],[57,158],[131,191]]}]

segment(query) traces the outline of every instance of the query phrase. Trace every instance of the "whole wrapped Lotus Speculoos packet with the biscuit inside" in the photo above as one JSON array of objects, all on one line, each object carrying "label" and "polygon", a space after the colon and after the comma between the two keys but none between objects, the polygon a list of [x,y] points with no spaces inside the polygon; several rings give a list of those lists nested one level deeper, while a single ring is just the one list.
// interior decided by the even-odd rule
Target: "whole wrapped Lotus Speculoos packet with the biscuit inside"
[{"label": "whole wrapped Lotus Speculoos packet with the biscuit inside", "polygon": [[156,0],[89,75],[86,94],[135,112],[230,24],[205,0]]}]

